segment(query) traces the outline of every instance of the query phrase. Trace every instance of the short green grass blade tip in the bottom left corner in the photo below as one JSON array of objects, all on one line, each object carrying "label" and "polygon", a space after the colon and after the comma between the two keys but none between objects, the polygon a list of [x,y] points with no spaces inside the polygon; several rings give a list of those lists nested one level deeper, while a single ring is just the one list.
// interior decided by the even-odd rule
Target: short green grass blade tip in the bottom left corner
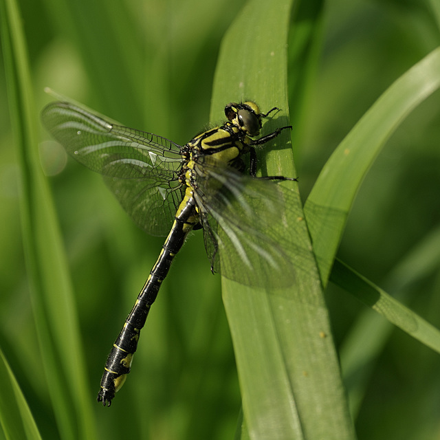
[{"label": "short green grass blade tip in the bottom left corner", "polygon": [[14,373],[0,349],[0,425],[7,439],[41,439]]}]

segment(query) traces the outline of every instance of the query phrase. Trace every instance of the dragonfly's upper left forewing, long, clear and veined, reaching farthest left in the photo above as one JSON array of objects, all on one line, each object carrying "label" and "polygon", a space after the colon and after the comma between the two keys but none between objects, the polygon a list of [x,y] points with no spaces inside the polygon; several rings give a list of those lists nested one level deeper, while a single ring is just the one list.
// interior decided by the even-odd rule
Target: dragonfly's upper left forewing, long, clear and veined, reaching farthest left
[{"label": "dragonfly's upper left forewing, long, clear and veined, reaching farthest left", "polygon": [[69,102],[49,104],[43,123],[78,162],[108,177],[173,178],[180,146],[153,133],[111,124]]}]

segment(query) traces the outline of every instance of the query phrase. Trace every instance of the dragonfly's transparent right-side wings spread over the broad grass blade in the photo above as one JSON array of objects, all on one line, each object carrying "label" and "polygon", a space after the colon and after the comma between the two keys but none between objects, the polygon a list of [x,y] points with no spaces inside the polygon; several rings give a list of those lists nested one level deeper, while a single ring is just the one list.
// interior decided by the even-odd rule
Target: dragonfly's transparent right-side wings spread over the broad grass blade
[{"label": "dragonfly's transparent right-side wings spread over the broad grass blade", "polygon": [[292,285],[295,269],[288,254],[294,243],[283,242],[280,232],[289,227],[285,206],[290,191],[210,157],[199,161],[195,172],[195,199],[213,269],[245,285]]}]

